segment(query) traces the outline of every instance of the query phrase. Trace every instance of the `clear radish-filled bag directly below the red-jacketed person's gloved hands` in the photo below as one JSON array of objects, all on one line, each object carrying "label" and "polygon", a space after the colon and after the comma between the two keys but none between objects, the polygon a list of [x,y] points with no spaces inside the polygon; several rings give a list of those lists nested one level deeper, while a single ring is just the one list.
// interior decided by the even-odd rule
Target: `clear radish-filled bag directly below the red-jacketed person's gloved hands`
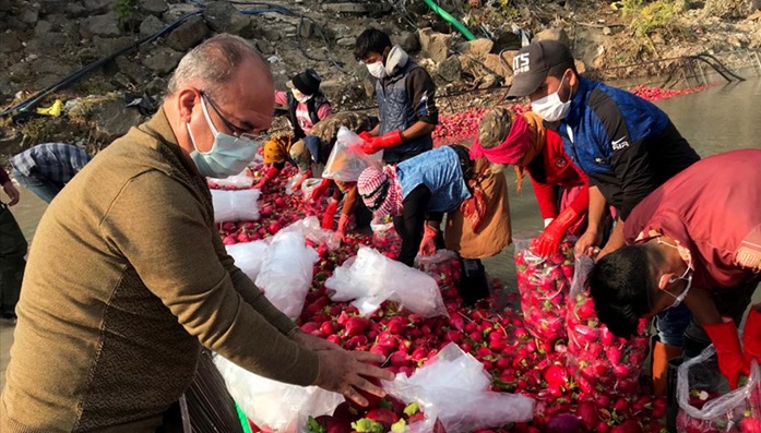
[{"label": "clear radish-filled bag directly below the red-jacketed person's gloved hands", "polygon": [[573,277],[573,242],[563,239],[559,251],[544,258],[531,251],[533,239],[515,239],[515,269],[521,310],[526,329],[538,339],[543,349],[551,350],[564,342],[566,299]]}]

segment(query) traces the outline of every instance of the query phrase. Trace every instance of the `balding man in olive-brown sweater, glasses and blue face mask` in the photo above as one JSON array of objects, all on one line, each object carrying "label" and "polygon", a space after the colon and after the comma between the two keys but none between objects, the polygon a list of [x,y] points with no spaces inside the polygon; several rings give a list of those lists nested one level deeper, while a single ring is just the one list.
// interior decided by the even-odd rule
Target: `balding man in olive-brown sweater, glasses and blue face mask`
[{"label": "balding man in olive-brown sweater, glasses and blue face mask", "polygon": [[392,378],[301,333],[226,254],[205,177],[253,158],[274,107],[250,45],[219,35],[182,59],[162,109],[98,154],[32,246],[0,431],[154,432],[202,346],[257,374],[365,402]]}]

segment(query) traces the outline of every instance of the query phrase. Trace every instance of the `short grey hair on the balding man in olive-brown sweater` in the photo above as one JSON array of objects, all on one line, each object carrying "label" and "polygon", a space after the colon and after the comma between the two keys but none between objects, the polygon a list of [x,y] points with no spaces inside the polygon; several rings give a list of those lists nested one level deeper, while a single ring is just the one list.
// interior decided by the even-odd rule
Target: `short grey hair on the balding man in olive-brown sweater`
[{"label": "short grey hair on the balding man in olive-brown sweater", "polygon": [[216,89],[230,80],[240,63],[248,57],[259,59],[272,81],[272,72],[267,63],[248,40],[223,33],[204,40],[182,57],[169,79],[167,95],[174,95],[185,83],[193,80],[204,82],[206,84],[204,91],[216,93]]}]

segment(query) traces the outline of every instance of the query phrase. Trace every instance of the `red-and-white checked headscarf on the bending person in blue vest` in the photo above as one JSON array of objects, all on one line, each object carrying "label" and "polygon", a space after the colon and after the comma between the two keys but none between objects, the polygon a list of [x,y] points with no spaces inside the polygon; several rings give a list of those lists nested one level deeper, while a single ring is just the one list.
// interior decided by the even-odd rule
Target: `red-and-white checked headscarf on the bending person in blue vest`
[{"label": "red-and-white checked headscarf on the bending person in blue vest", "polygon": [[359,175],[357,190],[374,217],[402,214],[402,188],[396,181],[396,168],[368,167]]}]

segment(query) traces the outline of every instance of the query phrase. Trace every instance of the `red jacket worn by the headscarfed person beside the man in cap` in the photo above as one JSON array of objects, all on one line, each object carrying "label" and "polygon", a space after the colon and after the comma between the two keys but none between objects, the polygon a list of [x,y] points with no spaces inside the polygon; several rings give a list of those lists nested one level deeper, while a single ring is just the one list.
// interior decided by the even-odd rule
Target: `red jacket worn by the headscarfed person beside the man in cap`
[{"label": "red jacket worn by the headscarfed person beside the man in cap", "polygon": [[590,205],[590,185],[586,175],[574,166],[571,158],[566,155],[560,135],[555,131],[546,130],[545,141],[542,153],[526,167],[534,184],[534,193],[539,203],[542,218],[558,216],[557,187],[583,187],[582,192],[571,202],[570,207],[579,215],[586,215]]}]

